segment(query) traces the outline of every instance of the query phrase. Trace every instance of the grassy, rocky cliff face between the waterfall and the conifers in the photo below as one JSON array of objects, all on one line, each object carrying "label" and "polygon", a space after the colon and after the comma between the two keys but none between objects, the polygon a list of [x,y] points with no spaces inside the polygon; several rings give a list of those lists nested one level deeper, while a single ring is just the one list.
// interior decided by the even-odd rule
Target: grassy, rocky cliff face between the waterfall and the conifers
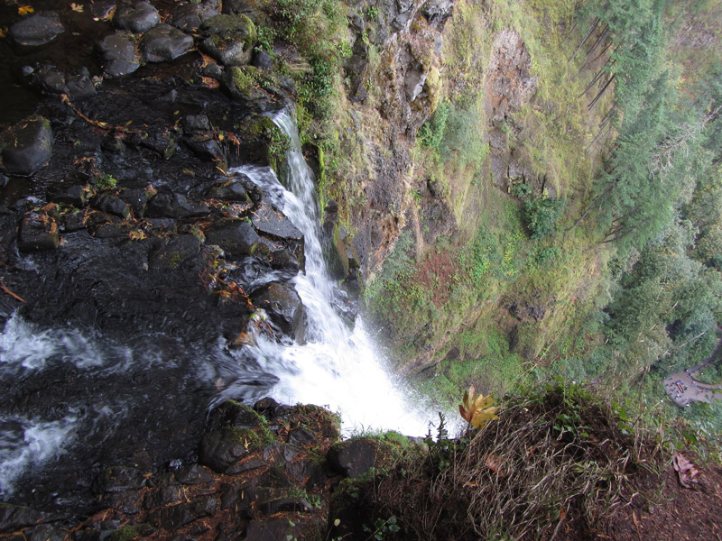
[{"label": "grassy, rocky cliff face between the waterfall and the conifers", "polygon": [[[552,308],[586,302],[596,286],[561,276],[557,258],[559,275],[542,287],[561,242],[530,241],[524,199],[560,208],[588,189],[603,139],[584,148],[601,114],[583,112],[583,87],[606,57],[579,72],[553,60],[571,46],[571,12],[556,5],[535,19],[503,3],[458,2],[436,20],[424,5],[384,41],[373,41],[374,22],[354,30],[369,42],[361,48],[356,37],[354,66],[356,50],[373,52],[369,91],[352,85],[340,107],[347,158],[329,194],[347,208],[366,306],[402,371],[437,370],[447,355],[448,365],[478,360],[488,348],[468,339],[493,333],[507,351],[534,357],[565,325]],[[424,85],[412,99],[418,73]],[[603,257],[592,252],[591,261]],[[569,256],[582,259],[577,247]]]}]

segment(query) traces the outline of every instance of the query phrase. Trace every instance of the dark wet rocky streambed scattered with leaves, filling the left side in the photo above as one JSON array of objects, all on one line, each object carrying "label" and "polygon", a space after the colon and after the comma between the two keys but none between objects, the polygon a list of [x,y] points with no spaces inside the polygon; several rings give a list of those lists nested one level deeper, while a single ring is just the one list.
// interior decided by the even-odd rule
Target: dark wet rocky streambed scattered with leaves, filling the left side
[{"label": "dark wet rocky streambed scattered with leaves, filling the left side", "polygon": [[[254,53],[243,2],[224,3],[222,20],[212,1],[81,7],[13,14],[3,45],[23,96],[2,124],[0,273],[15,297],[0,298],[0,322],[81,353],[53,350],[0,381],[4,432],[22,441],[42,419],[62,438],[49,463],[14,478],[0,537],[323,528],[333,474],[314,457],[338,438],[328,412],[267,401],[263,417],[218,408],[204,425],[219,393],[250,404],[277,381],[238,353],[248,335],[304,335],[290,285],[303,235],[251,177],[228,172],[282,167],[266,114],[289,103],[292,82]],[[206,41],[223,67],[195,50]],[[233,91],[207,84],[213,67]]]}]

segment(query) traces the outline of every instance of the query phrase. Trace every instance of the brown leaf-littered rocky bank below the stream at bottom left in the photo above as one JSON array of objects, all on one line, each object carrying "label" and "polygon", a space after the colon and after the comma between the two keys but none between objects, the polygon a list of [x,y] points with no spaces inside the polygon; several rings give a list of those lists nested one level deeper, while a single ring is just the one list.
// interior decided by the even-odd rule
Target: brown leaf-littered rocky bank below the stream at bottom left
[{"label": "brown leaf-littered rocky bank below the stream at bottom left", "polygon": [[[331,491],[340,477],[313,457],[337,441],[338,417],[312,406],[272,404],[272,399],[264,399],[249,408],[226,401],[211,412],[200,460],[207,453],[204,442],[233,439],[238,424],[247,430],[237,449],[225,448],[224,463],[215,471],[193,462],[166,472],[125,466],[101,472],[96,483],[99,503],[91,517],[74,525],[72,538],[209,541],[325,535]],[[283,442],[299,429],[310,438],[289,453]],[[226,436],[218,438],[219,433]],[[0,536],[13,532],[28,539],[70,538],[50,525],[37,526],[47,519],[29,508],[0,505]]]}]

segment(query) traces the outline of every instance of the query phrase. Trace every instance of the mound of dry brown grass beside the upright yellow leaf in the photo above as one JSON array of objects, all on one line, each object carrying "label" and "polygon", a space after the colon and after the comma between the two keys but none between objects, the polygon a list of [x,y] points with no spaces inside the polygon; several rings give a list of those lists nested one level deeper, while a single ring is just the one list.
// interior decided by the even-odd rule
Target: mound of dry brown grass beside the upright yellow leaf
[{"label": "mound of dry brown grass beside the upright yellow leaf", "polygon": [[550,385],[499,415],[377,477],[369,511],[397,517],[404,539],[582,538],[639,503],[631,478],[662,463],[657,438],[579,386]]}]

